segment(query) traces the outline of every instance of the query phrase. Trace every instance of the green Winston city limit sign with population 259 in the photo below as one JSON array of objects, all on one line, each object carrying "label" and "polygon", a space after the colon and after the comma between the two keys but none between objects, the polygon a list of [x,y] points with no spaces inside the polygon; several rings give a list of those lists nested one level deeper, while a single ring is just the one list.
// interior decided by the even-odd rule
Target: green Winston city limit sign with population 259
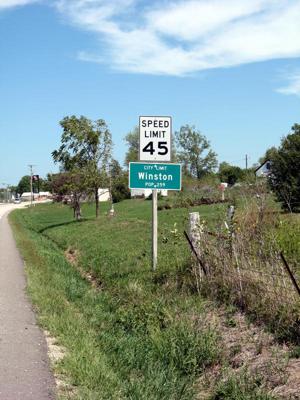
[{"label": "green Winston city limit sign with population 259", "polygon": [[129,162],[129,188],[181,190],[181,164]]}]

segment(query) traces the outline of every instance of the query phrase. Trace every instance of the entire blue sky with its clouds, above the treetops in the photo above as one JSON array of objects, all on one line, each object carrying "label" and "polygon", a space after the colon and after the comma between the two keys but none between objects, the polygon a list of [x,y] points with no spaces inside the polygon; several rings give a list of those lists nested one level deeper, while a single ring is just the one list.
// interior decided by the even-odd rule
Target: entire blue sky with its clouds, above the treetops
[{"label": "entire blue sky with its clouds, above the treetops", "polygon": [[[299,0],[0,0],[0,183],[58,166],[63,116],[194,124],[244,167],[300,122]],[[234,162],[239,160],[237,162]]]}]

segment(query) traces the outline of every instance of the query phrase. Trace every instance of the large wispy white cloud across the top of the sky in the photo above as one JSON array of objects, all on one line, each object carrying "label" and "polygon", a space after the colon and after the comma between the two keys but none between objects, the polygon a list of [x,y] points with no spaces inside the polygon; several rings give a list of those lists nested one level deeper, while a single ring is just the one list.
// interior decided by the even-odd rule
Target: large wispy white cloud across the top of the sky
[{"label": "large wispy white cloud across the top of the sky", "polygon": [[299,0],[60,0],[57,9],[99,37],[99,55],[81,59],[119,70],[184,75],[300,56]]}]

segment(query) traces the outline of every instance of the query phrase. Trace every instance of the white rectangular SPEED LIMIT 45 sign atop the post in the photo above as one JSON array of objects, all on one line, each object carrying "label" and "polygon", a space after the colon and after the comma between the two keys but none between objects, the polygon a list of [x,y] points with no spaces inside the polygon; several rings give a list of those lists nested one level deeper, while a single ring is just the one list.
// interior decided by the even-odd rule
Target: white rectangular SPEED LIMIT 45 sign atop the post
[{"label": "white rectangular SPEED LIMIT 45 sign atop the post", "polygon": [[172,160],[171,123],[170,116],[139,117],[139,161]]}]

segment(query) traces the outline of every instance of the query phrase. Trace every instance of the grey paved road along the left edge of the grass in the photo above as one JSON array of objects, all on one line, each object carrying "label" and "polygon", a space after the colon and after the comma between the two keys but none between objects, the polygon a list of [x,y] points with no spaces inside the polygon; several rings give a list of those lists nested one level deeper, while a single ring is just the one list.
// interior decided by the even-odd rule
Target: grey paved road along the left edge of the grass
[{"label": "grey paved road along the left edge of the grass", "polygon": [[0,205],[0,400],[54,398],[45,338],[26,299],[23,260],[7,213],[25,204]]}]

